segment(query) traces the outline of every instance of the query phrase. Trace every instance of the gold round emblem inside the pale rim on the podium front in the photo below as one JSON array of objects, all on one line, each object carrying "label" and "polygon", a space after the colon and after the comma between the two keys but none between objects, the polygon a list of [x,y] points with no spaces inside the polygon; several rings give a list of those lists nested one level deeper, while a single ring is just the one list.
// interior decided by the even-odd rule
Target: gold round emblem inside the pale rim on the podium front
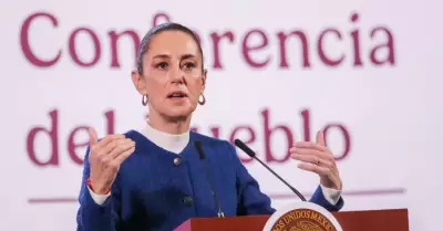
[{"label": "gold round emblem inside the pale rim on the podium front", "polygon": [[271,231],[337,231],[323,214],[310,209],[296,209],[281,216]]}]

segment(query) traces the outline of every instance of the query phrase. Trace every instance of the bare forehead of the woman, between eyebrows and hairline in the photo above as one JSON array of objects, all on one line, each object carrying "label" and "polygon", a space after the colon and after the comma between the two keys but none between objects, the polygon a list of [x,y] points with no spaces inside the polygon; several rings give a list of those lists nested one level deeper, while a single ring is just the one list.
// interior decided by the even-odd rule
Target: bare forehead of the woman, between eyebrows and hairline
[{"label": "bare forehead of the woman, between eyebrows and hairline", "polygon": [[183,56],[190,54],[199,55],[199,49],[194,39],[182,31],[164,31],[151,40],[148,56]]}]

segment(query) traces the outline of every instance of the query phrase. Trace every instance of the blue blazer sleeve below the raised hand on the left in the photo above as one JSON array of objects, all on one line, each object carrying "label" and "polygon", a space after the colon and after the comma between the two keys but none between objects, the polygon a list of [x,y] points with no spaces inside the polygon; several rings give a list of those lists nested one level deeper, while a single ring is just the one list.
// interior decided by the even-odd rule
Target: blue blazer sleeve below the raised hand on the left
[{"label": "blue blazer sleeve below the raised hand on the left", "polygon": [[90,148],[87,147],[79,196],[80,208],[76,216],[76,231],[117,231],[117,211],[120,210],[117,179],[115,179],[111,196],[103,204],[95,203],[86,185],[86,179],[90,177],[89,151]]}]

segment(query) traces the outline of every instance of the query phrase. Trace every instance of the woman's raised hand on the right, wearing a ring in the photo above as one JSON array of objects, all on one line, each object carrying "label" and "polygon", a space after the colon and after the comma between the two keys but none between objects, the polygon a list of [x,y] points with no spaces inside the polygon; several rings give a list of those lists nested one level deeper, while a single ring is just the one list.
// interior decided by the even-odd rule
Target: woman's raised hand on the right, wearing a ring
[{"label": "woman's raised hand on the right, wearing a ring", "polygon": [[341,190],[339,169],[331,151],[324,145],[322,132],[317,133],[316,143],[296,141],[290,149],[292,159],[300,160],[298,168],[316,172],[320,176],[320,183],[326,188]]}]

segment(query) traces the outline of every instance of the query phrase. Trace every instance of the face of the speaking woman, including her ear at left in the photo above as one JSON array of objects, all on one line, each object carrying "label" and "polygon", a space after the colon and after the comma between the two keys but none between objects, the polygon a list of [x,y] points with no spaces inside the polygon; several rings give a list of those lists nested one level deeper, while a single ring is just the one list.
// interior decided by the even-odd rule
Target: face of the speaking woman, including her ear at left
[{"label": "face of the speaking woman, including her ear at left", "polygon": [[150,114],[186,119],[195,111],[206,82],[202,60],[190,35],[182,31],[154,35],[143,57],[143,73],[132,75],[137,91],[148,96]]}]

